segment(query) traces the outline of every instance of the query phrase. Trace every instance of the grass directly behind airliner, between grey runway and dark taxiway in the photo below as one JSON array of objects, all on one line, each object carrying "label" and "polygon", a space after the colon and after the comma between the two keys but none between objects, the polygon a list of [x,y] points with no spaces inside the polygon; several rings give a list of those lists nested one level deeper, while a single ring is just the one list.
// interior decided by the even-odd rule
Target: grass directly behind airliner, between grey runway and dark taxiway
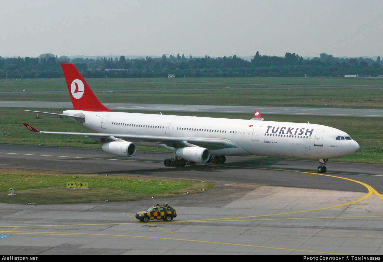
[{"label": "grass directly behind airliner, between grey runway and dark taxiway", "polygon": [[[33,110],[33,109],[32,109]],[[51,112],[55,112],[51,110]],[[59,112],[59,111],[57,111]],[[134,112],[134,111],[129,111]],[[145,111],[137,111],[145,113]],[[158,114],[158,112],[146,112]],[[235,119],[250,119],[250,114],[225,114],[203,112],[163,112],[163,114],[182,116],[208,116]],[[82,125],[67,118],[59,119],[48,115],[36,119],[33,113],[13,108],[0,108],[0,143],[44,145],[44,146],[72,146],[101,148],[101,143],[92,138],[69,135],[47,135],[29,132],[22,122],[28,122],[40,130],[62,132],[89,132]],[[380,118],[368,117],[333,117],[333,116],[290,116],[290,115],[264,115],[266,120],[298,122],[328,125],[349,133],[360,144],[360,150],[349,156],[331,159],[331,161],[349,161],[360,163],[383,164],[383,121]],[[137,147],[138,150],[153,150],[153,148]],[[156,151],[166,151],[157,148]],[[0,148],[1,151],[1,148]],[[139,152],[138,152],[139,154]]]}]

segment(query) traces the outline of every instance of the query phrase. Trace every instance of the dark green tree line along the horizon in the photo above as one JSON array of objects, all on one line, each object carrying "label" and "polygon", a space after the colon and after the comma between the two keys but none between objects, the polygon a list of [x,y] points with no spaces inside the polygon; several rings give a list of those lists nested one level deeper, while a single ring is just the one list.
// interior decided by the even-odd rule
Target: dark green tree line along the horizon
[{"label": "dark green tree line along the horizon", "polygon": [[237,57],[185,57],[162,55],[159,58],[126,59],[120,56],[106,59],[57,57],[44,54],[39,57],[0,57],[0,78],[59,78],[63,77],[60,63],[74,63],[85,77],[254,77],[254,76],[344,76],[363,74],[383,75],[383,61],[370,58],[338,58],[322,53],[319,57],[304,59],[295,53],[284,57],[260,55],[257,51],[251,61]]}]

